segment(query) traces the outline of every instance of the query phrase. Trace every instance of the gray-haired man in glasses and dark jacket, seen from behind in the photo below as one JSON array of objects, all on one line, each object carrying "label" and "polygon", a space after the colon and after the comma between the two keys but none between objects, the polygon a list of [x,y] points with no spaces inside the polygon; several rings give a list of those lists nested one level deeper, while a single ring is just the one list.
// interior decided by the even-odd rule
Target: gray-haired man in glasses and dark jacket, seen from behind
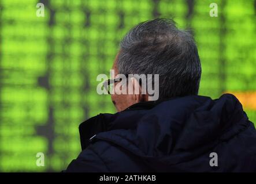
[{"label": "gray-haired man in glasses and dark jacket, seen from behind", "polygon": [[140,93],[112,94],[118,113],[99,114],[80,125],[83,151],[67,172],[256,171],[253,123],[235,96],[198,95],[198,50],[172,20],[132,28],[113,69],[114,78],[159,74],[159,99],[149,101],[138,80],[132,85],[139,85]]}]

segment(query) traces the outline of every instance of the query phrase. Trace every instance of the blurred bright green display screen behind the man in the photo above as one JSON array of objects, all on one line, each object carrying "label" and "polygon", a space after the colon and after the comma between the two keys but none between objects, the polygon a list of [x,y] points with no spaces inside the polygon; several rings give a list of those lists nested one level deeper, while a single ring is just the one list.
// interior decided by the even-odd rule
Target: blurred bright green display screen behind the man
[{"label": "blurred bright green display screen behind the man", "polygon": [[115,112],[97,94],[97,75],[109,75],[132,26],[156,17],[194,34],[199,93],[237,94],[256,122],[255,1],[214,2],[218,17],[201,0],[0,0],[0,171],[65,170],[81,150],[79,124]]}]

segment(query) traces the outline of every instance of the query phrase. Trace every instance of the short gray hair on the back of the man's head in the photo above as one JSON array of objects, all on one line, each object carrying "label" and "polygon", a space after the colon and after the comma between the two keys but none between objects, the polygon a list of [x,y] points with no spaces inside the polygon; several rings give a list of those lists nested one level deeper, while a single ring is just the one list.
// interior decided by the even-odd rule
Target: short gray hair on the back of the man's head
[{"label": "short gray hair on the back of the man's head", "polygon": [[120,74],[159,74],[159,99],[197,95],[198,49],[190,33],[166,18],[141,22],[124,36],[117,58]]}]

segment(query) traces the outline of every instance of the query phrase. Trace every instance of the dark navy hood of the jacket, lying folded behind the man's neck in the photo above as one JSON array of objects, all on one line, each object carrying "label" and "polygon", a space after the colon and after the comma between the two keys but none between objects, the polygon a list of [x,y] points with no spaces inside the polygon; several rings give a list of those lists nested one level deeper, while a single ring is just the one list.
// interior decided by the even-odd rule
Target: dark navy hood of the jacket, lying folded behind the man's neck
[{"label": "dark navy hood of the jacket, lying folded behind the man's neck", "polygon": [[231,139],[249,122],[232,94],[219,99],[193,95],[139,103],[116,114],[99,114],[83,122],[79,130],[82,149],[90,141],[109,141],[164,171]]}]

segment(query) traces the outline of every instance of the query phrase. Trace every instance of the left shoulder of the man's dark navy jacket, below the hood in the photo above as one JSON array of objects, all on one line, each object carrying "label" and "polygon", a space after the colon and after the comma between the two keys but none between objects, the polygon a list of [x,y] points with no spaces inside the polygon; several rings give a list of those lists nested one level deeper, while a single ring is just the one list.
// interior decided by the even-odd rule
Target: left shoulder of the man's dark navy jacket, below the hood
[{"label": "left shoulder of the man's dark navy jacket, below the hood", "polygon": [[108,141],[98,140],[83,150],[65,172],[143,172],[139,156]]}]

